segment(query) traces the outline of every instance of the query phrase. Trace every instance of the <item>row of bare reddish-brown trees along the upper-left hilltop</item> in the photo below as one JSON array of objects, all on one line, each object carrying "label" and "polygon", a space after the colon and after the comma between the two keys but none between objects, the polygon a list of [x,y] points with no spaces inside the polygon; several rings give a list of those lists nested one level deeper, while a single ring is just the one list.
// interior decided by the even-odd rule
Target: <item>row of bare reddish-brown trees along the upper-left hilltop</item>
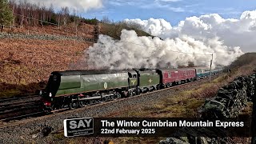
[{"label": "row of bare reddish-brown trees along the upper-left hilltop", "polygon": [[[19,2],[17,2],[17,0],[9,0],[9,6],[16,17],[12,22],[9,22],[8,25],[14,26],[16,23],[20,28],[23,28],[24,26],[44,26],[47,22],[54,22],[58,24],[58,28],[60,29],[60,26],[66,26],[72,21],[75,23],[74,27],[76,34],[78,35],[78,24],[80,22],[86,22],[85,18],[79,17],[77,10],[74,10],[73,15],[70,14],[70,9],[68,7],[62,7],[58,13],[54,13],[53,5],[46,7],[40,5],[39,2],[29,3],[27,0],[20,0]],[[106,21],[111,22],[108,18],[106,18]]]}]

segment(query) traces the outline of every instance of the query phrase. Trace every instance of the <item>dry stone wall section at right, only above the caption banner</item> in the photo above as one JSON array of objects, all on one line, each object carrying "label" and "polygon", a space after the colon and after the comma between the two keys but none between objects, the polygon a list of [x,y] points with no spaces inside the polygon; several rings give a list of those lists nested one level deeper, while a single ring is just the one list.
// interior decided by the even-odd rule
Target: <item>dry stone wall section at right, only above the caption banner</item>
[{"label": "dry stone wall section at right, only above the caption banner", "polygon": [[253,76],[240,76],[206,100],[202,118],[236,118],[254,95]]}]

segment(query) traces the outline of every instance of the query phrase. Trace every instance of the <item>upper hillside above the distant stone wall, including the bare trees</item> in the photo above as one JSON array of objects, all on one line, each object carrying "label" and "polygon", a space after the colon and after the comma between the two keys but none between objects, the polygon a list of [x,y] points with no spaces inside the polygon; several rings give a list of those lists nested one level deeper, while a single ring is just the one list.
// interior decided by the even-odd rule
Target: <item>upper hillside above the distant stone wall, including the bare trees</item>
[{"label": "upper hillside above the distant stone wall, including the bare trees", "polygon": [[[53,6],[46,7],[21,0],[9,1],[6,11],[10,11],[10,18],[0,22],[1,32],[8,34],[51,34],[78,38],[98,38],[98,34],[106,34],[119,39],[121,30],[135,30],[139,36],[150,36],[139,30],[138,26],[127,26],[124,22],[111,22],[96,18],[82,18],[78,11],[69,7],[62,7],[54,11]],[[3,31],[2,31],[3,30]]]}]

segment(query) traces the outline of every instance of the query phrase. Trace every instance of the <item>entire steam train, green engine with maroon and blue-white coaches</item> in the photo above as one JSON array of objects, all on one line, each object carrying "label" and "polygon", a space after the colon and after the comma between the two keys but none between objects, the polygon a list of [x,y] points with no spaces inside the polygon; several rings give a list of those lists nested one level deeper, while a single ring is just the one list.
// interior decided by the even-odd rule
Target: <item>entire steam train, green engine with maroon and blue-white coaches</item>
[{"label": "entire steam train, green engine with maroon and blue-white coaches", "polygon": [[[222,69],[212,70],[218,74]],[[40,92],[43,110],[78,108],[117,98],[192,82],[210,76],[207,68],[69,70],[50,74],[46,89]]]}]

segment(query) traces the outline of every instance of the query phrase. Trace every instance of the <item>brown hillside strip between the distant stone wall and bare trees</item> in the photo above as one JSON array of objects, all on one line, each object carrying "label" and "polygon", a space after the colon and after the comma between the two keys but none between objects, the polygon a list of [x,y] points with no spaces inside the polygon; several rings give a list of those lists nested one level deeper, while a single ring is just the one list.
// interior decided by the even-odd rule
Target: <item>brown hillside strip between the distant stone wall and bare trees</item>
[{"label": "brown hillside strip between the distant stone wall and bare trees", "polygon": [[66,26],[19,26],[13,27],[12,29],[6,28],[3,32],[8,34],[50,34],[56,36],[70,36],[78,38],[97,38],[98,34],[105,34],[114,39],[120,39],[121,31],[134,30],[138,36],[150,36],[154,37],[143,30],[139,30],[136,27],[128,26],[126,23],[117,22],[117,23],[104,23],[99,22],[98,26],[89,25],[86,23],[80,23],[76,28],[73,23],[70,23]]}]

